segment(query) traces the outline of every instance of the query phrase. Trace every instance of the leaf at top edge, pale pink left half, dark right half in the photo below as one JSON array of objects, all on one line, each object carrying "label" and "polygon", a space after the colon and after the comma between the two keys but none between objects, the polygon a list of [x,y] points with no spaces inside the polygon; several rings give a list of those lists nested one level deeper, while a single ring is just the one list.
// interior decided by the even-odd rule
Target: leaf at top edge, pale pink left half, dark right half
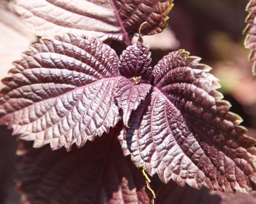
[{"label": "leaf at top edge, pale pink left half, dark right half", "polygon": [[39,36],[78,33],[131,43],[141,23],[143,34],[166,27],[173,0],[16,0],[21,19]]}]

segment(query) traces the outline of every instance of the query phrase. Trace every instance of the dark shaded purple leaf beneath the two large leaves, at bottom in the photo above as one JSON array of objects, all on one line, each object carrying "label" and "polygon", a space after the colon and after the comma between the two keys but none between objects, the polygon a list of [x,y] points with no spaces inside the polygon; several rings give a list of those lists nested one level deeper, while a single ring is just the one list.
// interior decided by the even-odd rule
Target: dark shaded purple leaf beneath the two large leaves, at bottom
[{"label": "dark shaded purple leaf beneath the two large leaves, at bottom", "polygon": [[17,189],[23,204],[151,204],[140,169],[125,158],[114,132],[84,147],[51,151],[20,141]]}]

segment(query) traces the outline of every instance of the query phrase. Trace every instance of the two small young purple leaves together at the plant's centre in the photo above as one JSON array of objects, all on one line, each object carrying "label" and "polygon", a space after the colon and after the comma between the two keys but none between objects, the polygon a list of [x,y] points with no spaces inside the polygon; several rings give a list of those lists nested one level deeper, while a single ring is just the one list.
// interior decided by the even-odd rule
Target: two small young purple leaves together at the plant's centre
[{"label": "two small young purple leaves together at the plant's centre", "polygon": [[123,122],[126,127],[131,112],[145,100],[151,89],[149,82],[152,77],[152,59],[150,56],[151,52],[148,46],[143,45],[141,37],[134,45],[128,46],[120,56],[118,68],[124,77],[116,83],[114,95],[118,107],[122,108]]}]

